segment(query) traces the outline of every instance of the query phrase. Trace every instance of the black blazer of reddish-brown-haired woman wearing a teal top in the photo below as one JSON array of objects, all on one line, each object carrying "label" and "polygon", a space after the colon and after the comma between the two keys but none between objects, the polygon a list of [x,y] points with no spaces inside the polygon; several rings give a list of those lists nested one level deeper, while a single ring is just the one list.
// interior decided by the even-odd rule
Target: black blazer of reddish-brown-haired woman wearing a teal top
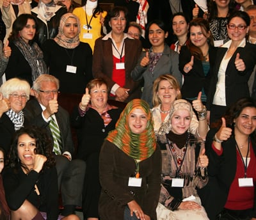
[{"label": "black blazer of reddish-brown-haired woman wearing a teal top", "polygon": [[188,49],[188,46],[185,45],[181,47],[179,54],[179,70],[184,75],[184,84],[181,88],[181,94],[183,98],[197,97],[198,93],[202,91],[202,88],[204,88],[206,95],[208,94],[212,77],[211,70],[214,67],[216,60],[216,52],[216,47],[209,47],[210,70],[205,77],[202,61],[196,59],[195,56],[193,68],[188,72],[188,74],[183,71],[184,66],[191,60],[191,53]]}]

